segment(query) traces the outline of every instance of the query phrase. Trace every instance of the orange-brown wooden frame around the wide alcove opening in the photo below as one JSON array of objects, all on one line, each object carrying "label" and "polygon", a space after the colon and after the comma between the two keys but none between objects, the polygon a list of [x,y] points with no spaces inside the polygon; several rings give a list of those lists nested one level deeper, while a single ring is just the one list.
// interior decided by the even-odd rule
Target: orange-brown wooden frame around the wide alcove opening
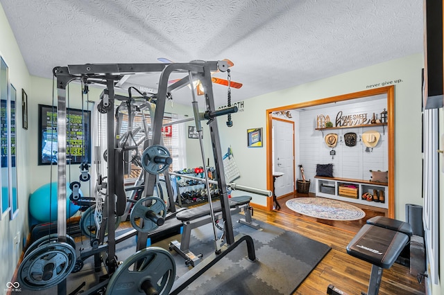
[{"label": "orange-brown wooden frame around the wide alcove opening", "polygon": [[[276,107],[266,109],[266,138],[272,138],[271,128],[273,124],[273,112],[287,111],[289,109],[302,109],[303,107],[314,107],[326,103],[338,102],[343,100],[352,100],[364,98],[367,96],[376,96],[386,94],[387,96],[387,137],[388,137],[388,217],[395,217],[395,87],[387,86],[354,93],[343,94],[341,96],[332,96],[330,98],[321,98],[300,102],[295,105]],[[268,190],[273,190],[273,150],[271,140],[266,141],[266,186]],[[266,208],[273,210],[273,198],[267,198]]]}]

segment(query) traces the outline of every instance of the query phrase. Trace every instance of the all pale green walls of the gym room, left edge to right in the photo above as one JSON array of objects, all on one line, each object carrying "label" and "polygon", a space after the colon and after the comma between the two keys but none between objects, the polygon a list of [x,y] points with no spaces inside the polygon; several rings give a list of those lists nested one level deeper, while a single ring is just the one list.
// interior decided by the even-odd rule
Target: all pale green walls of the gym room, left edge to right
[{"label": "all pale green walls of the gym room, left edge to right", "polygon": [[[12,240],[20,232],[21,238],[28,234],[28,195],[38,186],[49,182],[48,167],[37,166],[37,104],[51,104],[52,81],[31,77],[10,29],[3,8],[0,6],[0,55],[10,69],[10,82],[17,89],[17,103],[21,102],[21,89],[28,93],[29,129],[17,127],[17,170],[19,179],[19,215],[15,220],[3,217],[0,221],[0,255],[3,259],[0,270],[0,285],[11,280],[22,253],[22,243],[13,244]],[[244,101],[244,111],[233,115],[234,127],[225,126],[226,118],[219,118],[221,130],[221,146],[223,150],[231,146],[234,157],[241,172],[238,184],[266,188],[266,148],[246,147],[246,129],[263,127],[265,136],[266,109],[293,105],[298,102],[318,100],[345,93],[368,89],[368,85],[400,80],[395,84],[395,217],[405,220],[405,204],[421,204],[421,69],[422,54],[410,55],[375,64],[364,69],[336,75],[334,77],[302,84],[297,87],[266,93]],[[64,66],[64,65],[61,65]],[[382,86],[382,85],[381,85]],[[75,87],[73,87],[75,88]],[[80,93],[80,91],[78,91]],[[92,89],[91,96],[100,93]],[[78,107],[72,97],[71,107]],[[233,93],[233,100],[236,100]],[[192,115],[191,108],[175,105],[169,111],[178,114]],[[441,111],[442,114],[442,111]],[[443,125],[441,116],[441,125]],[[21,122],[22,114],[18,112],[17,122]],[[189,123],[187,125],[194,125]],[[206,129],[205,134],[209,134]],[[209,150],[209,136],[205,136],[205,148]],[[267,138],[264,138],[266,145]],[[187,139],[188,166],[200,166],[198,141]],[[207,152],[207,157],[209,156]],[[441,178],[441,193],[443,193]],[[265,197],[255,197],[257,204],[266,204]],[[444,208],[441,202],[441,208]],[[444,236],[444,218],[441,217],[441,239]],[[22,239],[21,239],[22,240]],[[440,244],[444,253],[443,244]],[[441,255],[441,265],[444,263]],[[433,294],[440,294],[441,286],[433,286]]]}]

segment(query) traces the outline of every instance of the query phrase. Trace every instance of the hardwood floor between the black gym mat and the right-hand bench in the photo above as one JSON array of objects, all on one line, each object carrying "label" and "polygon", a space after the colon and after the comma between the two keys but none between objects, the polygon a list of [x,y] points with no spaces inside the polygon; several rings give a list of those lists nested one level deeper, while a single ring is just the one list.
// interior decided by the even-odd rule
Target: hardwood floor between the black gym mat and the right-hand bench
[{"label": "hardwood floor between the black gym mat and the right-hand bench", "polygon": [[[367,292],[370,263],[354,258],[345,251],[354,233],[279,211],[257,209],[254,218],[332,247],[293,294],[326,294],[330,284],[350,295]],[[419,284],[416,276],[409,273],[409,267],[395,263],[390,269],[384,269],[379,294],[425,294],[425,283]]]}]

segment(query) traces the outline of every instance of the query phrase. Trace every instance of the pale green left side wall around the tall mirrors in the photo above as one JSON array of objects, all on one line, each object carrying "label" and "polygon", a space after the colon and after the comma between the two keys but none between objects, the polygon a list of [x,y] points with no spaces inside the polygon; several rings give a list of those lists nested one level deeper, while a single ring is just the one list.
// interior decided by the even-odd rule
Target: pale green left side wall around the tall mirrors
[{"label": "pale green left side wall around the tall mirrors", "polygon": [[[3,215],[0,220],[0,292],[6,286],[17,267],[17,262],[22,254],[23,239],[28,233],[28,194],[30,191],[29,163],[28,163],[28,141],[29,131],[22,129],[22,89],[28,93],[28,101],[33,100],[30,94],[30,80],[28,69],[20,53],[19,46],[10,29],[3,8],[0,6],[0,55],[9,67],[10,83],[17,89],[17,112],[16,112],[16,134],[17,134],[17,195],[19,213],[14,220],[9,215]],[[19,244],[14,244],[14,238],[20,232]]]}]

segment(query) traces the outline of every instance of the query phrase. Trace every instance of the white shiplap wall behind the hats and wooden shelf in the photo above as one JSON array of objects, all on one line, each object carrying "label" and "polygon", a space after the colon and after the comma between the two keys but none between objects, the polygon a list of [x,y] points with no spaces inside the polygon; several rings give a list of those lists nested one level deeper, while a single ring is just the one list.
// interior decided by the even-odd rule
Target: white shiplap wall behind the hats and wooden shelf
[{"label": "white shiplap wall behind the hats and wooden shelf", "polygon": [[[330,116],[333,124],[335,124],[336,114],[342,111],[343,116],[348,114],[366,113],[367,118],[372,118],[373,113],[379,114],[386,109],[386,98],[359,100],[348,105],[334,105],[324,108],[304,109],[299,111],[298,120],[296,120],[296,167],[302,164],[305,170],[305,177],[311,179],[314,183],[316,175],[316,164],[333,164],[333,176],[370,180],[370,170],[388,170],[388,143],[387,143],[387,127],[352,127],[315,130],[316,117],[320,114]],[[385,129],[385,132],[384,132]],[[366,152],[366,146],[361,140],[361,134],[368,130],[376,130],[381,134],[379,142],[372,152]],[[357,134],[357,144],[354,147],[345,145],[343,135],[347,132],[355,132]],[[334,150],[336,155],[330,156],[331,147],[327,147],[324,136],[329,133],[338,134],[338,143]],[[300,173],[296,172],[297,179],[300,179]],[[315,186],[310,186],[310,192],[314,193]]]}]

